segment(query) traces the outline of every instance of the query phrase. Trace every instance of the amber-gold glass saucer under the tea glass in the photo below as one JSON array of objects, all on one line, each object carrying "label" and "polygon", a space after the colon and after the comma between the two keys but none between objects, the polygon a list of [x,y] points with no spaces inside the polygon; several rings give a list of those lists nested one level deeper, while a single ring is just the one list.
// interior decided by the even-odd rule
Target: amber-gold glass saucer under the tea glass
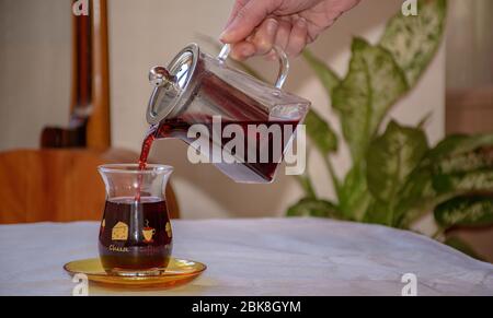
[{"label": "amber-gold glass saucer under the tea glass", "polygon": [[206,266],[184,259],[171,258],[168,267],[152,273],[136,272],[125,275],[108,274],[99,258],[77,260],[64,266],[71,275],[85,274],[90,282],[112,287],[169,288],[191,282],[206,270]]}]

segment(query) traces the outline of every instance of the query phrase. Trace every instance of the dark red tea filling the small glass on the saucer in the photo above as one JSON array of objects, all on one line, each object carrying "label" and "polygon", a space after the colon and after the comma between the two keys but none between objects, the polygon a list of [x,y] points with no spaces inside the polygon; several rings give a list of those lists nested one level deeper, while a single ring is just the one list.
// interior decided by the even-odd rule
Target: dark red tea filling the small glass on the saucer
[{"label": "dark red tea filling the small glass on the saucer", "polygon": [[106,201],[99,249],[108,272],[165,268],[172,250],[165,201],[152,197]]}]

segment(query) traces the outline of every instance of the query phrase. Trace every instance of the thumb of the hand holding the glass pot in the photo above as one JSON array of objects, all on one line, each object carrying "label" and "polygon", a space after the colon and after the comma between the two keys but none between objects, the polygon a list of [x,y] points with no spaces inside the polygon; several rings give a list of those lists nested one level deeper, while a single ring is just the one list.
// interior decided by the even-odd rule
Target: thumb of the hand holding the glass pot
[{"label": "thumb of the hand holding the glass pot", "polygon": [[222,32],[223,43],[238,43],[253,33],[271,13],[278,7],[277,0],[251,0],[238,10],[231,23]]}]

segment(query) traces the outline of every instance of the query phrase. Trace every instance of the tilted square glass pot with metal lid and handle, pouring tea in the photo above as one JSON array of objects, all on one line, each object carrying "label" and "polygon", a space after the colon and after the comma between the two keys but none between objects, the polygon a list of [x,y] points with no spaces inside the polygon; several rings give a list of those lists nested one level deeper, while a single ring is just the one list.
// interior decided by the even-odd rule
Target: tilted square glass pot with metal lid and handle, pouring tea
[{"label": "tilted square glass pot with metal lid and handle, pouring tea", "polygon": [[[154,137],[197,148],[194,141],[205,130],[210,148],[198,150],[222,173],[237,182],[272,182],[310,106],[282,91],[289,62],[283,50],[275,50],[280,64],[275,85],[227,66],[229,45],[211,57],[192,44],[167,68],[152,68],[147,120]],[[193,127],[202,128],[198,134],[191,133]]]}]

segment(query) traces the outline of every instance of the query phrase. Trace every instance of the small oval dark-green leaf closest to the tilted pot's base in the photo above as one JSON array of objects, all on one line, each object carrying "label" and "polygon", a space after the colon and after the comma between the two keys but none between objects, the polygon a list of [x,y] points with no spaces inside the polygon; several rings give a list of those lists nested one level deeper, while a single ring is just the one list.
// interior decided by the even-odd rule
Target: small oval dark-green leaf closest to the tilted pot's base
[{"label": "small oval dark-green leaf closest to the tilted pot's base", "polygon": [[337,151],[337,136],[329,122],[314,110],[310,110],[305,119],[307,134],[317,149],[324,155]]}]

